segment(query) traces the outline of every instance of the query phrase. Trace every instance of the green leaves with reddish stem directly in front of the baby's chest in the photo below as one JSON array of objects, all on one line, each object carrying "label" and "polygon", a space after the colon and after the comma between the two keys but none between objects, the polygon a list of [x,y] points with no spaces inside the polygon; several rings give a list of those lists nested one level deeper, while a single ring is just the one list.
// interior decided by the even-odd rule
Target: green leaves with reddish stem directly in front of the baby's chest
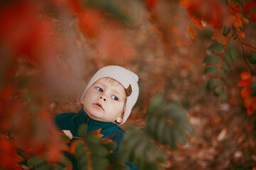
[{"label": "green leaves with reddish stem directly in front of the baby's chest", "polygon": [[78,160],[79,169],[127,169],[124,166],[124,159],[119,153],[113,153],[116,145],[113,142],[104,142],[102,138],[97,137],[94,132],[84,136],[87,131],[85,124],[80,125],[78,135],[82,140],[75,144],[75,158]]}]

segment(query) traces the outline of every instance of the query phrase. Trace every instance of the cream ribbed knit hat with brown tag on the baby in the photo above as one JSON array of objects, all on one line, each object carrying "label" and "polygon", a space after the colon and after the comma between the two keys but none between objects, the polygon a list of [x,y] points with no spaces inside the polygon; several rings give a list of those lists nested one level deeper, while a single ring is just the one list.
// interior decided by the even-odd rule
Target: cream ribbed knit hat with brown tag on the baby
[{"label": "cream ribbed knit hat with brown tag on the baby", "polygon": [[89,83],[87,84],[80,99],[81,103],[83,98],[85,98],[86,91],[90,89],[90,86],[95,84],[97,80],[104,77],[110,77],[124,86],[124,90],[127,94],[127,101],[124,107],[124,117],[122,122],[119,123],[119,125],[122,125],[129,117],[132,107],[136,103],[139,96],[139,77],[134,72],[129,71],[129,69],[124,69],[124,67],[114,65],[102,67],[93,75],[92,79],[90,79]]}]

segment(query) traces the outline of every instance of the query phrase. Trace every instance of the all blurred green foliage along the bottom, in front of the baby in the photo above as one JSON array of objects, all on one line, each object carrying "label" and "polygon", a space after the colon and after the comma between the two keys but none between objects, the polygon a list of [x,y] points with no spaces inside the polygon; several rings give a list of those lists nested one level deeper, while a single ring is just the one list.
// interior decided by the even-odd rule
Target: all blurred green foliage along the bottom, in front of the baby
[{"label": "all blurred green foliage along the bottom, in front of the baby", "polygon": [[[163,101],[163,95],[156,95],[149,103],[144,128],[137,129],[132,124],[126,126],[127,135],[121,142],[120,152],[112,152],[117,145],[111,140],[101,139],[100,132],[91,132],[85,137],[87,125],[82,124],[78,130],[78,140],[73,140],[68,149],[68,157],[71,155],[78,160],[79,169],[127,169],[124,162],[131,162],[140,169],[163,169],[161,164],[166,162],[168,155],[159,149],[156,142],[174,149],[176,143],[186,142],[186,132],[193,132],[185,111],[176,103],[163,104]],[[33,157],[28,166],[66,169],[70,164],[68,157],[54,164]]]}]

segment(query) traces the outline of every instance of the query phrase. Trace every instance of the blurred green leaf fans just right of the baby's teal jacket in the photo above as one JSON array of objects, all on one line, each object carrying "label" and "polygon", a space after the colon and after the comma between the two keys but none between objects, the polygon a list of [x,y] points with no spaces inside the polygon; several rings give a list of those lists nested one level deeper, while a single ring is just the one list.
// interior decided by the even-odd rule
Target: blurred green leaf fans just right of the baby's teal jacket
[{"label": "blurred green leaf fans just right of the baby's teal jacket", "polygon": [[186,112],[176,103],[164,104],[164,96],[156,95],[146,111],[146,126],[140,130],[134,125],[127,126],[127,139],[122,148],[129,162],[140,169],[162,169],[161,164],[168,157],[158,145],[171,149],[176,142],[186,142],[186,132],[193,132]]}]

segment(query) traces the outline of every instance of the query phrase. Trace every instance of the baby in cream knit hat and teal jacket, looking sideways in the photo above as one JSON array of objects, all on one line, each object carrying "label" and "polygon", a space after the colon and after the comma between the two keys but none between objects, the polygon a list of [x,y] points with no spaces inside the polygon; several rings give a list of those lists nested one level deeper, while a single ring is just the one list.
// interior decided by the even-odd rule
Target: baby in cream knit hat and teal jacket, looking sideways
[{"label": "baby in cream knit hat and teal jacket, looking sideways", "polygon": [[[55,123],[71,141],[78,137],[78,128],[87,125],[88,135],[92,130],[100,130],[102,138],[108,138],[119,144],[124,137],[124,130],[119,127],[129,117],[132,107],[139,96],[139,77],[134,72],[119,66],[107,66],[98,70],[90,79],[80,102],[78,113],[62,113],[55,117]],[[78,169],[77,162],[71,158],[73,169]],[[130,169],[136,169],[126,163]]]}]

